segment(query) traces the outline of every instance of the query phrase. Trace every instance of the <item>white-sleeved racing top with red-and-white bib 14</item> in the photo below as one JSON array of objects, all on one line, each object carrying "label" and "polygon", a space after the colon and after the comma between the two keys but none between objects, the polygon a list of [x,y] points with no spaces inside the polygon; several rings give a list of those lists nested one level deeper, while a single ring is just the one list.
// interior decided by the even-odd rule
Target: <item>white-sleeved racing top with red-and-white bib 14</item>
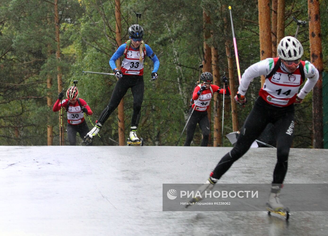
[{"label": "white-sleeved racing top with red-and-white bib 14", "polygon": [[[241,77],[239,94],[245,95],[249,84],[255,77],[270,74],[278,59],[278,57],[267,58],[247,68]],[[297,93],[298,97],[303,99],[312,90],[319,79],[319,72],[310,62],[301,61],[301,63],[304,67],[305,78],[308,79],[300,92],[298,93],[298,90],[304,81],[301,78],[299,67],[295,72],[290,73],[281,62],[280,68],[271,77],[265,79],[263,88],[258,93],[264,101],[274,106],[286,107],[295,102]]]}]

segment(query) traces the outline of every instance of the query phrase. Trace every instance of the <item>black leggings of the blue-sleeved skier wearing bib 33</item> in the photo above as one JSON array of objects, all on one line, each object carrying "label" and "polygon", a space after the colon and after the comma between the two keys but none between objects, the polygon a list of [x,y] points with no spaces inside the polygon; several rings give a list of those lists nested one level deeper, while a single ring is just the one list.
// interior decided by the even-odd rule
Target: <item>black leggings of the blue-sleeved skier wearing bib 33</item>
[{"label": "black leggings of the blue-sleeved skier wearing bib 33", "polygon": [[145,89],[143,76],[139,75],[123,75],[123,78],[117,80],[111,100],[109,101],[107,107],[102,111],[98,119],[99,123],[105,123],[112,112],[118,107],[129,88],[131,88],[133,95],[133,114],[131,126],[138,126]]}]

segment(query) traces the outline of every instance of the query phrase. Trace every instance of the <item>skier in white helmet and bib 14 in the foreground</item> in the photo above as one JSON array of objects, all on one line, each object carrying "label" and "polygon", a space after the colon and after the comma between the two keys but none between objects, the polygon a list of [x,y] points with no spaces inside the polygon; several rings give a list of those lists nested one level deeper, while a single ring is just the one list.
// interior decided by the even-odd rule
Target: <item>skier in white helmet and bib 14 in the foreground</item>
[{"label": "skier in white helmet and bib 14 in the foreground", "polygon": [[[211,190],[232,164],[248,151],[267,124],[272,123],[277,138],[277,164],[267,206],[282,212],[286,208],[281,204],[279,194],[287,173],[288,154],[293,141],[294,103],[301,103],[312,90],[318,81],[319,72],[310,62],[300,60],[303,47],[296,38],[287,36],[281,39],[277,51],[279,57],[257,62],[242,75],[235,96],[236,102],[241,105],[246,102],[245,93],[250,82],[260,75],[266,75],[266,80],[240,130],[235,147],[223,156],[199,191],[204,193],[205,190]],[[298,92],[305,78],[307,80]],[[194,198],[191,202],[201,199]]]}]

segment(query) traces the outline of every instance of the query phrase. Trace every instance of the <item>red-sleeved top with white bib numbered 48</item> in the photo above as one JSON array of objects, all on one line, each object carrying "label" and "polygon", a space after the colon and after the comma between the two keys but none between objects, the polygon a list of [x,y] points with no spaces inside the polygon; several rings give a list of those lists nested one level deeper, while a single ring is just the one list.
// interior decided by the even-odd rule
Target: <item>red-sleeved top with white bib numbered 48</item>
[{"label": "red-sleeved top with white bib numbered 48", "polygon": [[[210,107],[211,104],[211,99],[213,97],[213,93],[218,92],[219,94],[227,94],[230,95],[230,88],[228,87],[228,93],[226,91],[226,89],[221,89],[220,87],[218,87],[217,85],[211,85],[210,88],[205,89],[202,91],[202,93],[199,95],[199,99],[198,99],[198,94],[197,92],[200,90],[201,84],[197,85],[194,93],[193,93],[193,100],[194,100],[194,104],[192,106],[192,108],[195,108],[196,111],[207,111],[208,108]],[[197,101],[198,99],[198,101]]]}]

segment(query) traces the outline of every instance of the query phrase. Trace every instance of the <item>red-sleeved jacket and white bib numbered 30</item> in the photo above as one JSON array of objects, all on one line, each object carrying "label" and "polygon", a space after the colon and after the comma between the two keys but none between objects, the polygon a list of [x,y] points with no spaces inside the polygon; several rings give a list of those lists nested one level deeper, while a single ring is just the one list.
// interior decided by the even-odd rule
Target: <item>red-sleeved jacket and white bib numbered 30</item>
[{"label": "red-sleeved jacket and white bib numbered 30", "polygon": [[[88,115],[92,115],[92,110],[90,109],[89,105],[86,101],[84,101],[82,98],[80,99],[80,103],[82,107],[87,108]],[[65,108],[67,107],[68,99],[62,100],[62,103],[60,103],[60,99],[57,99],[55,104],[53,105],[52,110],[53,111],[59,111],[61,107]],[[79,105],[79,103],[76,101],[74,104],[69,103],[68,109],[67,109],[67,122],[71,125],[79,125],[84,121],[84,114],[83,111]]]}]

